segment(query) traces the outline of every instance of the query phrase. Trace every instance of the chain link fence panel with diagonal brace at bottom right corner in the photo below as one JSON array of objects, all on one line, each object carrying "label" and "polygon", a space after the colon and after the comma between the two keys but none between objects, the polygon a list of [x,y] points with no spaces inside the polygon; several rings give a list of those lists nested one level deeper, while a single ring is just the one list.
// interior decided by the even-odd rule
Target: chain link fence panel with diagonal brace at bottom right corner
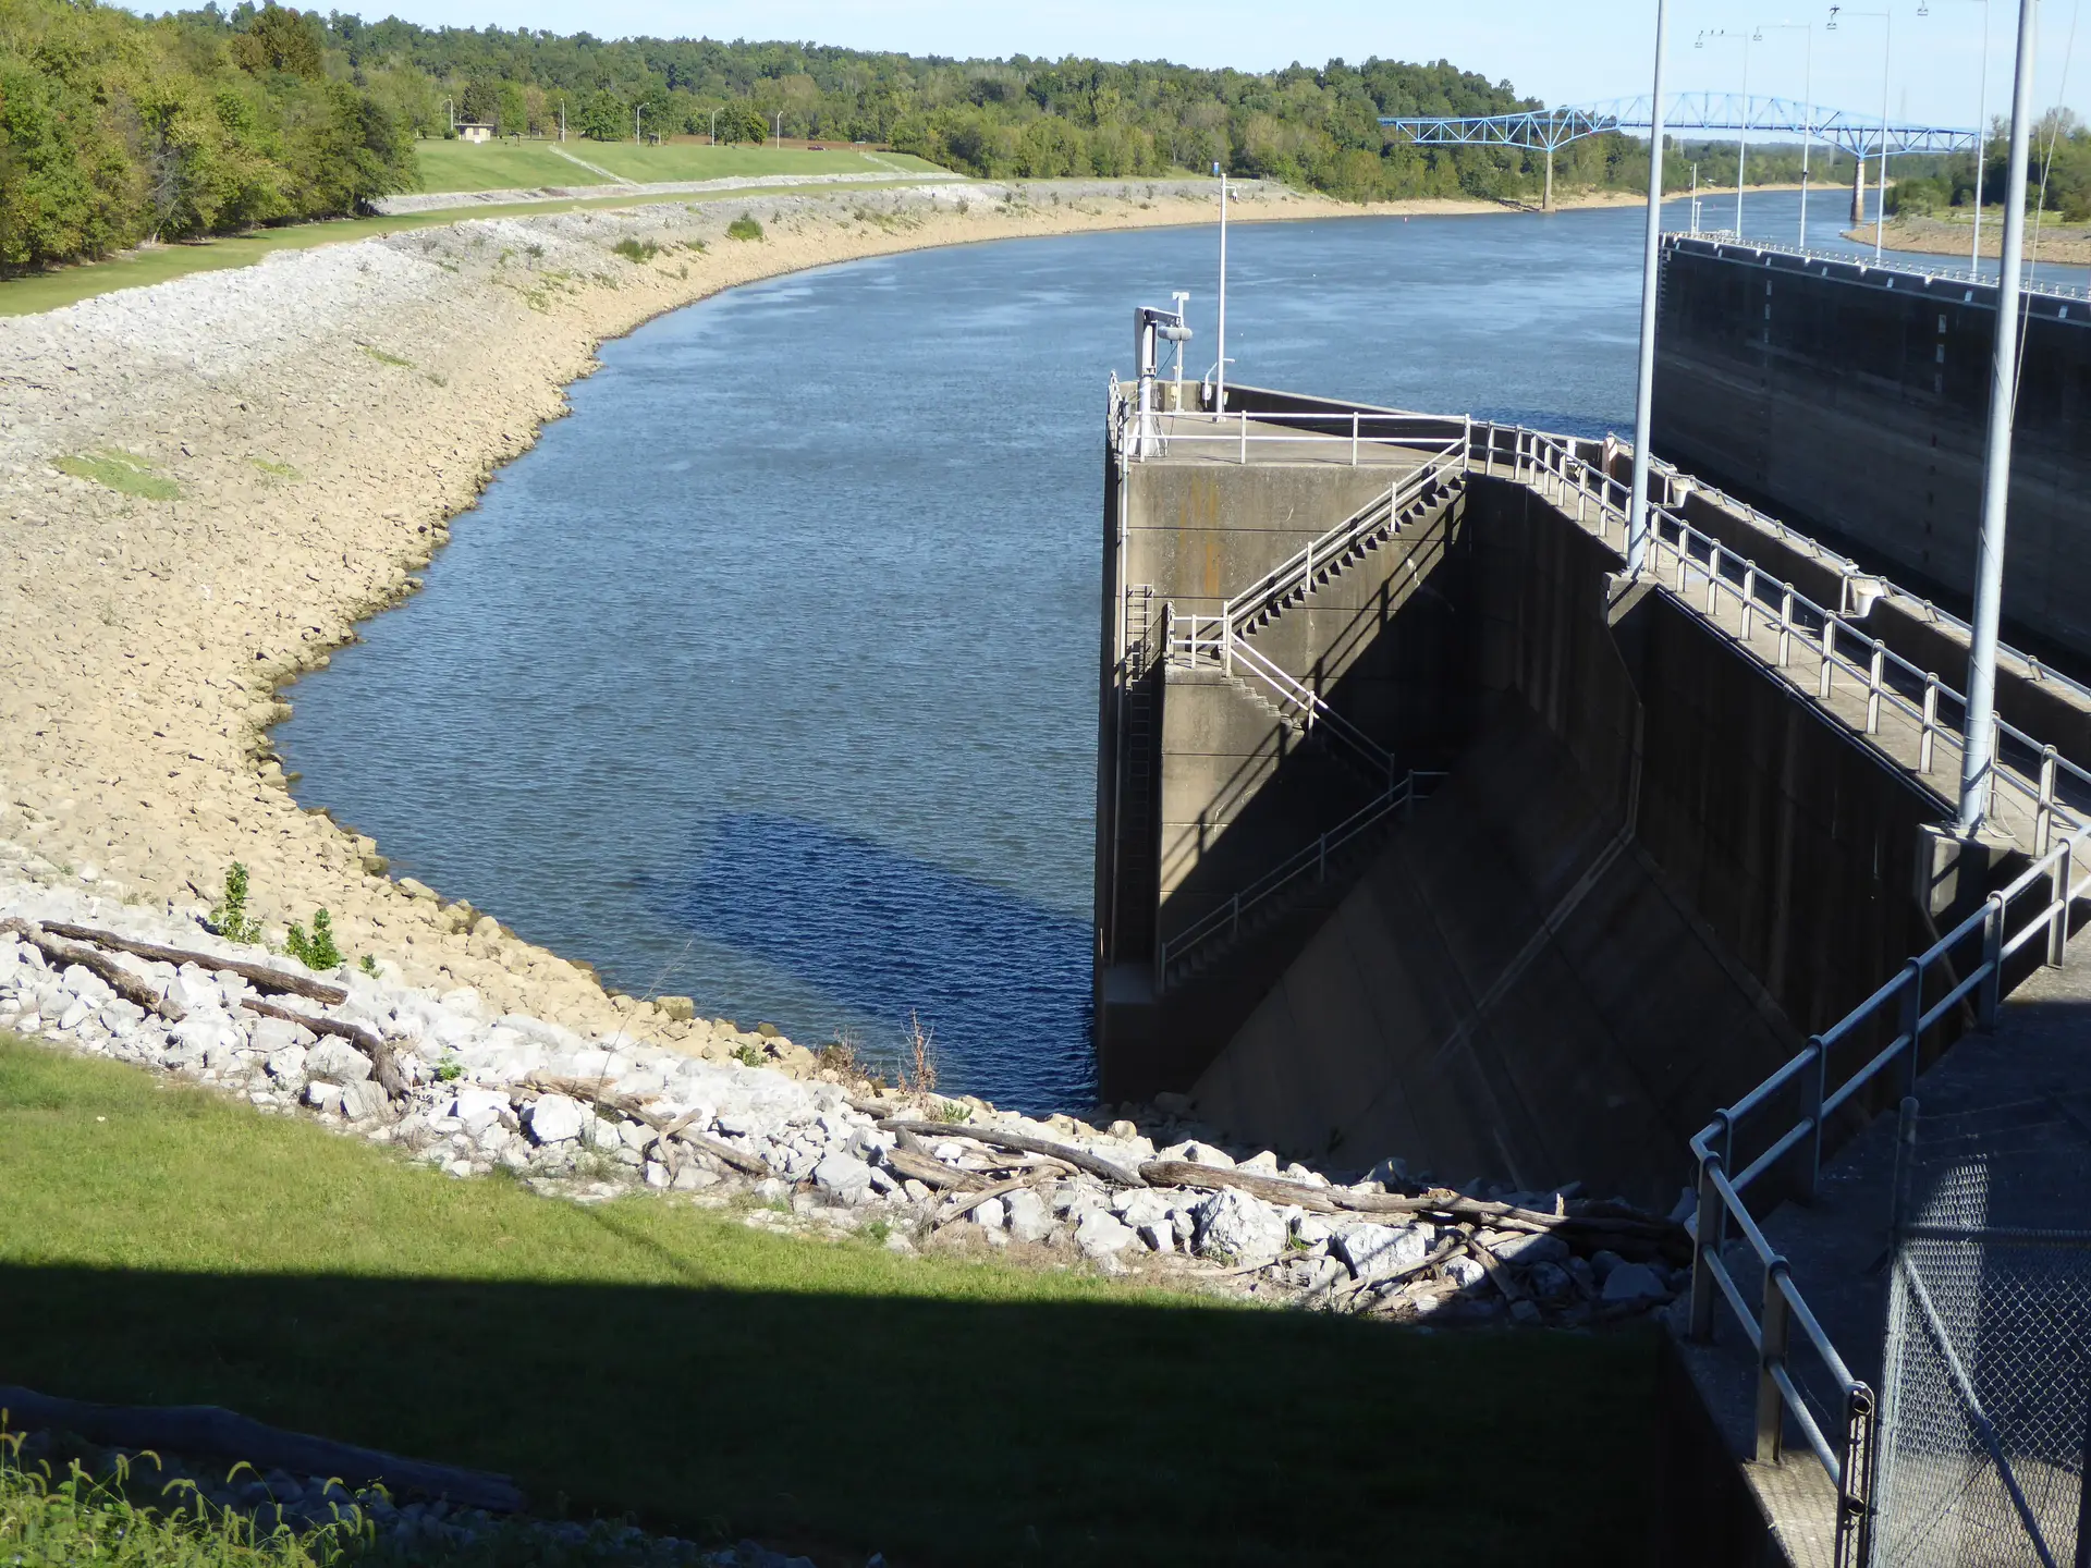
[{"label": "chain link fence panel with diagonal brace at bottom right corner", "polygon": [[1905,1175],[1874,1568],[2091,1566],[2091,1231],[1993,1223],[1989,1177]]}]

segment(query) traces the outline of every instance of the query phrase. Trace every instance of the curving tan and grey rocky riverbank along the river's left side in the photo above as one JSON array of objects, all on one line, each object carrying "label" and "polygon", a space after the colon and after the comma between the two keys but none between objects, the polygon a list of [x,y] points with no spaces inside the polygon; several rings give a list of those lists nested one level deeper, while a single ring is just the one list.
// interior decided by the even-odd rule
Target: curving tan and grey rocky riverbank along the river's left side
[{"label": "curving tan and grey rocky riverbank along the river's left side", "polygon": [[[1248,222],[1359,211],[1240,197]],[[272,928],[326,907],[345,951],[412,985],[602,1027],[617,1008],[585,968],[391,880],[381,845],[297,807],[268,742],[278,686],[418,587],[606,337],[801,268],[1211,215],[1204,182],[502,215],[0,320],[0,498],[19,523],[0,558],[0,863],[188,907],[238,859]]]}]

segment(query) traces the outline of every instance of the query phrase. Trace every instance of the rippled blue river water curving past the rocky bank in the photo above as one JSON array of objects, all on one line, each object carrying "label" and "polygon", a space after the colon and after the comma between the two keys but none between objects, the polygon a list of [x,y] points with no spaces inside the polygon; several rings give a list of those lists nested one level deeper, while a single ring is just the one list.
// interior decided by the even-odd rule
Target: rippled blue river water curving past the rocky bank
[{"label": "rippled blue river water curving past the rocky bank", "polygon": [[[1796,215],[1750,197],[1752,232]],[[1625,429],[1639,234],[1238,226],[1232,376]],[[945,1087],[1087,1106],[1104,383],[1171,289],[1207,368],[1213,272],[1211,230],[972,245],[606,343],[427,590],[297,686],[301,803],[621,989],[874,1054],[918,1016]]]}]

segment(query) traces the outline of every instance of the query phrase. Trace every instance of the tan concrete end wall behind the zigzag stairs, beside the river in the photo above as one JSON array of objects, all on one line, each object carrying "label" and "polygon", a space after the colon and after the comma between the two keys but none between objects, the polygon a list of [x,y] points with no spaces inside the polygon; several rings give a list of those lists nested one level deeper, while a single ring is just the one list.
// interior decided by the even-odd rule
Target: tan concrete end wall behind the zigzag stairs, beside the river
[{"label": "tan concrete end wall behind the zigzag stairs, beside the river", "polygon": [[[1165,682],[1163,606],[1217,613],[1382,498],[1393,477],[1345,464],[1142,462],[1123,475],[1106,464],[1096,1033],[1115,1093],[1167,1087],[1154,1077],[1156,935],[1186,928],[1384,788],[1328,740],[1288,728],[1255,682],[1188,671]],[[1384,656],[1378,633],[1391,606],[1428,577],[1449,527],[1416,529],[1372,552],[1311,606],[1259,633],[1261,652],[1332,707],[1376,736],[1424,736],[1428,755],[1443,753],[1432,736],[1457,707],[1437,686],[1388,684],[1374,661]],[[1407,562],[1411,552],[1422,567]]]}]

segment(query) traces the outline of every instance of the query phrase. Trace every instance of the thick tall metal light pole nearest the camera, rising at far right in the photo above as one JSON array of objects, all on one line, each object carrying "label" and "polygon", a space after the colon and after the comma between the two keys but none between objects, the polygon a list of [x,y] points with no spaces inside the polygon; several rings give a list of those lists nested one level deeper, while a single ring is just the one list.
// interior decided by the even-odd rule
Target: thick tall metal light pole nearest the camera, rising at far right
[{"label": "thick tall metal light pole nearest the camera, rising at far right", "polygon": [[1997,261],[1997,345],[1989,364],[1989,447],[1982,454],[1982,537],[1976,541],[1974,644],[1968,650],[1968,748],[1961,753],[1959,830],[1982,826],[1997,765],[1997,623],[2003,617],[2003,518],[2012,500],[2012,414],[2018,381],[2018,263],[2026,245],[2026,148],[2032,140],[2032,21],[2039,0],[2018,0],[2012,75],[2012,163],[2003,184],[2003,255]]}]

